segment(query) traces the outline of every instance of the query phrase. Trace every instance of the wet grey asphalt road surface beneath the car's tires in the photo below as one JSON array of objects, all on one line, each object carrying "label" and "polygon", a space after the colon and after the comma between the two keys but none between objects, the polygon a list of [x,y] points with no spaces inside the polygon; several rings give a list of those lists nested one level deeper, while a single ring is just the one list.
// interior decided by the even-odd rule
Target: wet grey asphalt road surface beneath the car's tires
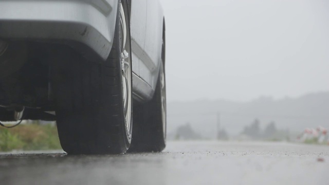
[{"label": "wet grey asphalt road surface beneath the car's tires", "polygon": [[0,153],[0,184],[329,184],[329,146],[168,142],[162,153]]}]

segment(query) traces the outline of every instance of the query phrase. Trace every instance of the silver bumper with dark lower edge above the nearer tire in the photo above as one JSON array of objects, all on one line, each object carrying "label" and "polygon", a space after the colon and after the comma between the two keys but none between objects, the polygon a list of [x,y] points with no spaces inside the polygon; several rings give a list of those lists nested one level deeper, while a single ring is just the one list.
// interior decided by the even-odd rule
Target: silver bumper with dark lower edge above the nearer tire
[{"label": "silver bumper with dark lower edge above the nearer tire", "polygon": [[64,43],[106,60],[118,0],[0,0],[0,39]]}]

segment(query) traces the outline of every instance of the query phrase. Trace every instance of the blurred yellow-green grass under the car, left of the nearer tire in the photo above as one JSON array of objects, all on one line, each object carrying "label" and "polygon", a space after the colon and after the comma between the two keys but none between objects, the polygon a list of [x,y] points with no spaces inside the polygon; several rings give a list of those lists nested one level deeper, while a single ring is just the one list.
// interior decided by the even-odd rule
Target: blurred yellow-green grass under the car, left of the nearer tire
[{"label": "blurred yellow-green grass under the car, left of the nearer tire", "polygon": [[61,149],[56,125],[22,124],[14,128],[0,127],[0,151]]}]

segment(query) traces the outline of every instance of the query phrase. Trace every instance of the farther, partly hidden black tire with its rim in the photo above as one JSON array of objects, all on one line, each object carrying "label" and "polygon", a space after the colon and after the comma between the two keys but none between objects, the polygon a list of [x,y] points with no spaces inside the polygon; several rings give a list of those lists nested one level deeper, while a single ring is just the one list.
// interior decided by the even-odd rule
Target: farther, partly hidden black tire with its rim
[{"label": "farther, partly hidden black tire with its rim", "polygon": [[129,152],[161,152],[166,147],[166,78],[161,62],[154,96],[143,104],[134,103],[134,130]]}]

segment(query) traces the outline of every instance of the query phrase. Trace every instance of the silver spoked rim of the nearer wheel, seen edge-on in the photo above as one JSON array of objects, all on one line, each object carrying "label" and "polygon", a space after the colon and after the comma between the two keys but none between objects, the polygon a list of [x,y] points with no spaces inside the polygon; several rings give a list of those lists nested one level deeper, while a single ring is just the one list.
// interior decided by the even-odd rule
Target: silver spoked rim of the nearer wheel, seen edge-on
[{"label": "silver spoked rim of the nearer wheel, seen edge-on", "polygon": [[123,109],[124,109],[124,119],[125,128],[128,139],[131,139],[132,135],[132,123],[131,123],[131,107],[132,107],[132,83],[131,83],[131,57],[130,57],[130,43],[127,40],[128,30],[127,30],[127,20],[126,15],[121,3],[120,6],[120,43],[121,43],[121,77],[122,77],[122,97],[123,97]]}]

